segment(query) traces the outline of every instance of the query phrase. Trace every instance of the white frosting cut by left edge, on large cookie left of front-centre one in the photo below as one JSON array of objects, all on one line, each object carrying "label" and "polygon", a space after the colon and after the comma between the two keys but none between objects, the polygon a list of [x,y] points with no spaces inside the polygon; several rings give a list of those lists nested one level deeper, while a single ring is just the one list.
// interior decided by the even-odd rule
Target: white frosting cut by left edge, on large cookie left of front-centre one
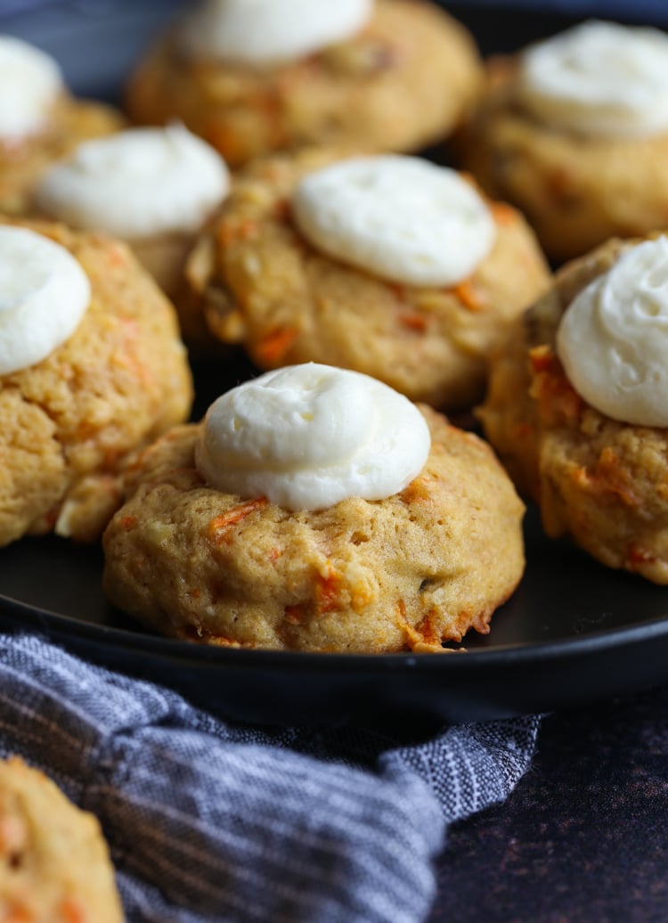
[{"label": "white frosting cut by left edge, on large cookie left of front-centre one", "polygon": [[42,362],[77,330],[89,278],[64,246],[0,227],[0,375]]}]

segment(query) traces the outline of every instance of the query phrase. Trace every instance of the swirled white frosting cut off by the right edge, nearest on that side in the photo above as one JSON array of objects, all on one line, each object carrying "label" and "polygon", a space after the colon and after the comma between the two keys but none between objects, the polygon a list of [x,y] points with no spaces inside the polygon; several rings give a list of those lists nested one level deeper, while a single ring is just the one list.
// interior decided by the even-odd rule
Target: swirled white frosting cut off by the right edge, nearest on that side
[{"label": "swirled white frosting cut off by the right edge, nearest on that side", "polygon": [[556,350],[575,390],[602,414],[668,426],[668,237],[633,246],[573,299]]}]

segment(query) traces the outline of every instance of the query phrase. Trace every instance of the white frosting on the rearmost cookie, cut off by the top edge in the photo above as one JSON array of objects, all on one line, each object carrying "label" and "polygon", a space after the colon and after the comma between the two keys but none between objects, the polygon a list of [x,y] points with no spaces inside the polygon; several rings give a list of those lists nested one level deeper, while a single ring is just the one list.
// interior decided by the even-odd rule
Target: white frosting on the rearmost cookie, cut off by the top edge
[{"label": "white frosting on the rearmost cookie, cut off by the top edge", "polygon": [[313,54],[361,30],[373,0],[204,0],[178,30],[193,57],[271,66]]}]

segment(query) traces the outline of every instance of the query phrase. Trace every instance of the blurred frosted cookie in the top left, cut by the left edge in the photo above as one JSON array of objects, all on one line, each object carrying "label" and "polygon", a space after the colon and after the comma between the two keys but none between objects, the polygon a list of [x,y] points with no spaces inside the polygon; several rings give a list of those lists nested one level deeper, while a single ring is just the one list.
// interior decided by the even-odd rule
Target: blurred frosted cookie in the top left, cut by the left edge
[{"label": "blurred frosted cookie in the top left, cut by the left edge", "polygon": [[0,35],[0,211],[24,214],[43,172],[80,141],[112,134],[125,118],[74,98],[60,66],[29,42]]}]

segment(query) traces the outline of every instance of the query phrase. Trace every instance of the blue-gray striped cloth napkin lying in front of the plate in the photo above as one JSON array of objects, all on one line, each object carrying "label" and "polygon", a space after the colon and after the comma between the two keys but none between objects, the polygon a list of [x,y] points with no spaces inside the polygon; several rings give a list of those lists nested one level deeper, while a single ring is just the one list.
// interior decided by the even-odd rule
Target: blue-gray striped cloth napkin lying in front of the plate
[{"label": "blue-gray striped cloth napkin lying in front of the plate", "polygon": [[131,923],[417,923],[447,825],[507,797],[539,722],[414,745],[230,725],[42,637],[0,635],[0,752],[100,818]]}]

